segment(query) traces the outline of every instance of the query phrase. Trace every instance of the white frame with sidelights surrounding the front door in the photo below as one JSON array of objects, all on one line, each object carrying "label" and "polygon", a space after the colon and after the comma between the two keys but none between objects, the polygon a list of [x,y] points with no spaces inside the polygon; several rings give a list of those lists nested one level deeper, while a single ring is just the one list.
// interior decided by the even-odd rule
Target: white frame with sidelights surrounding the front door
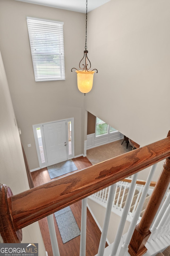
[{"label": "white frame with sidelights surrounding the front door", "polygon": [[[71,122],[71,154],[69,155],[69,138],[68,138],[68,132],[66,132],[66,138],[67,138],[67,159],[74,158],[74,117],[73,118],[66,118],[62,120],[57,120],[57,121],[52,121],[52,122],[47,122],[47,123],[40,123],[37,125],[33,125],[33,133],[34,133],[34,138],[35,138],[35,145],[36,145],[36,150],[37,150],[37,156],[38,156],[38,161],[39,161],[39,166],[40,169],[48,166],[47,162],[47,154],[46,154],[46,148],[45,148],[45,139],[44,139],[44,131],[43,131],[43,125],[48,124],[48,123],[55,123],[55,122],[60,122],[60,121],[66,121],[66,124],[68,125],[68,122]],[[43,146],[43,151],[44,151],[44,161],[42,162],[41,159],[41,152],[40,152],[40,147],[39,147],[39,138],[37,135],[37,128],[40,128],[41,131],[41,139],[42,139],[42,146]],[[66,126],[66,131],[67,131],[67,126]]]}]

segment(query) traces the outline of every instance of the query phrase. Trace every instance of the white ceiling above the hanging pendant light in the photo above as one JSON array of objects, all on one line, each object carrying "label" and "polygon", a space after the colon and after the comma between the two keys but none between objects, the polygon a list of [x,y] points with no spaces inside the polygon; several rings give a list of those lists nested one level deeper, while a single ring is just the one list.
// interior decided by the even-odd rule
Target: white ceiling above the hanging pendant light
[{"label": "white ceiling above the hanging pendant light", "polygon": [[[86,13],[86,0],[15,0],[15,1],[34,3],[37,5],[45,5],[50,7],[56,7],[59,9]],[[109,1],[111,0],[88,0],[87,2],[88,12],[96,9],[100,5],[103,5],[104,3],[107,3]]]}]

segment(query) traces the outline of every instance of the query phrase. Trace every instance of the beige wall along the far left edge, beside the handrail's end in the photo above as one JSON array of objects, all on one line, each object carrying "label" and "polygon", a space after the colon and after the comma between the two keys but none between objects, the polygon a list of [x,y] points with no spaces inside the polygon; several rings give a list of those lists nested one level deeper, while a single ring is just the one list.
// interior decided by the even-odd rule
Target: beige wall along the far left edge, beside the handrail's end
[{"label": "beige wall along the far left edge, beside the handrail's end", "polygon": [[[9,186],[13,194],[18,194],[29,189],[29,186],[1,53],[0,120],[0,182]],[[38,222],[23,229],[22,243],[39,243],[39,255],[46,255]]]}]

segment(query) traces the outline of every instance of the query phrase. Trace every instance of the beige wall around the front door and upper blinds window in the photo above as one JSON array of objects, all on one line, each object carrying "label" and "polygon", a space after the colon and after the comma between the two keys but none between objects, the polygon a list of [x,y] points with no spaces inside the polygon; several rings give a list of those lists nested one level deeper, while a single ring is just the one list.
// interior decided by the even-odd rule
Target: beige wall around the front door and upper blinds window
[{"label": "beige wall around the front door and upper blinds window", "polygon": [[[65,81],[35,82],[26,17],[63,21]],[[83,30],[82,30],[83,28]],[[30,169],[39,167],[32,125],[74,117],[75,155],[84,151],[84,95],[77,67],[85,46],[85,14],[19,1],[0,1],[0,49]],[[27,144],[32,147],[27,147]]]}]

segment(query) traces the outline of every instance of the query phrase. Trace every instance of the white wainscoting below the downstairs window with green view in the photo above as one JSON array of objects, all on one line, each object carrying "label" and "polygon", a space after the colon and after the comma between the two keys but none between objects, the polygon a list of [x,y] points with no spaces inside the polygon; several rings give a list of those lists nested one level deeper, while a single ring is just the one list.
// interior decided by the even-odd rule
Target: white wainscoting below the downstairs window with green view
[{"label": "white wainscoting below the downstairs window with green view", "polygon": [[95,136],[95,133],[87,135],[87,149],[92,149],[93,147],[98,147],[113,141],[118,141],[123,139],[123,134],[119,131],[114,131],[113,133]]}]

